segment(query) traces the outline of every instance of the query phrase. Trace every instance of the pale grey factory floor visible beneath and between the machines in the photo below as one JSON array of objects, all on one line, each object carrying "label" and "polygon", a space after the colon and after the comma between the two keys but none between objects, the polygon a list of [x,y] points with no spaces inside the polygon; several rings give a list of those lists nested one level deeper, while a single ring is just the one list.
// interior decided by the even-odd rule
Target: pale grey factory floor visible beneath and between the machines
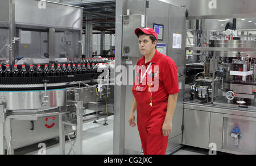
[{"label": "pale grey factory floor visible beneath and between the machines", "polygon": [[[83,128],[83,150],[84,155],[112,155],[113,154],[113,124],[114,115],[108,117],[108,126],[103,126],[104,119],[98,120],[98,123],[88,122],[84,124]],[[73,139],[72,139],[73,141]],[[47,155],[58,155],[59,140],[51,139],[43,142],[46,144]],[[15,154],[28,154],[37,155],[40,148],[38,144],[33,144],[24,148],[15,150]],[[66,153],[71,149],[71,145],[67,139],[66,141]],[[209,150],[184,146],[172,153],[172,155],[208,155]],[[71,152],[73,154],[73,152]],[[217,154],[226,154],[220,153]]]}]

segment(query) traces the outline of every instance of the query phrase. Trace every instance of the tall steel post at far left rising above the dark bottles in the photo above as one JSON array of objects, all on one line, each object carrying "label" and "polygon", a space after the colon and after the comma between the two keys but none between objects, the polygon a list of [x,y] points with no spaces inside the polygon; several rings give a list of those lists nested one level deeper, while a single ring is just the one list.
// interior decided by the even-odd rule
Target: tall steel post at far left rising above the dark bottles
[{"label": "tall steel post at far left rising above the dark bottles", "polygon": [[9,42],[10,42],[10,51],[9,51],[9,64],[10,69],[12,70],[15,64],[15,0],[9,0]]}]

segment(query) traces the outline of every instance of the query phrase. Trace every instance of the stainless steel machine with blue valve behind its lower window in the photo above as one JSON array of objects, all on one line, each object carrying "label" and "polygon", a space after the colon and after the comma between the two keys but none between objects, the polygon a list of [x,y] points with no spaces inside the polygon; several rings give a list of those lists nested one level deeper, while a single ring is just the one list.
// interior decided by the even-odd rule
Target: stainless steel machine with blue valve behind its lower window
[{"label": "stainless steel machine with blue valve behind its lower window", "polygon": [[[243,31],[254,31],[248,22],[256,15],[247,18],[248,13],[237,16],[226,12],[221,16],[187,16],[187,22],[195,23],[192,27],[187,24],[187,29],[193,29],[195,47],[186,50],[196,58],[186,65],[189,68],[186,77],[191,78],[185,85],[183,144],[234,154],[255,154],[256,42]],[[230,18],[235,19],[228,35],[224,28],[228,21],[232,22]]]}]

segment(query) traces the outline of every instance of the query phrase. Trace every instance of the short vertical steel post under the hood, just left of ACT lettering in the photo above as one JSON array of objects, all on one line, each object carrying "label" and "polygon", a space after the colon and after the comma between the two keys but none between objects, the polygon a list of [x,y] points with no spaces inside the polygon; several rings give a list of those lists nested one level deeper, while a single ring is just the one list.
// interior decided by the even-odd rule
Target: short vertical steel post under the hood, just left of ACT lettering
[{"label": "short vertical steel post under the hood, just left of ACT lettering", "polygon": [[55,29],[49,28],[48,34],[49,62],[55,61]]}]

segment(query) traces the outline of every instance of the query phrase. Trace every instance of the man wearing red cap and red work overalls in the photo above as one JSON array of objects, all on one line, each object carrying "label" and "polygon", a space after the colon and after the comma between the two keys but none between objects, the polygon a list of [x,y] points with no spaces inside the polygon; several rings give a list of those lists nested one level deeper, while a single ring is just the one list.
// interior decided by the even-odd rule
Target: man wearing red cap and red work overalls
[{"label": "man wearing red cap and red work overalls", "polygon": [[177,67],[170,57],[156,51],[158,36],[152,28],[137,28],[135,34],[143,57],[137,63],[129,125],[137,126],[137,109],[144,155],[164,155],[179,93]]}]

